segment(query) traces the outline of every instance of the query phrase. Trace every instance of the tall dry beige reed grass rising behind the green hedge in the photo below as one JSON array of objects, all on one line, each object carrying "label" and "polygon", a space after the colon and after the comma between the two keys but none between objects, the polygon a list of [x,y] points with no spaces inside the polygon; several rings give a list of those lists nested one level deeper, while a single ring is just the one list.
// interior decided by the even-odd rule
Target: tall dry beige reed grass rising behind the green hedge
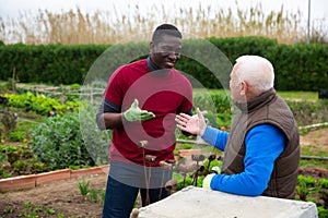
[{"label": "tall dry beige reed grass rising behind the green hedge", "polygon": [[[113,11],[82,13],[77,8],[61,13],[39,10],[37,14],[21,13],[17,19],[0,19],[0,40],[4,44],[117,44],[122,37],[151,32],[162,23],[177,25],[190,36],[235,37],[265,36],[277,38],[279,43],[305,41],[306,29],[301,26],[301,12],[289,13],[281,10],[265,13],[261,4],[249,10],[202,7],[174,8],[167,10],[164,3],[153,5],[143,12],[138,5],[129,7],[129,15]],[[214,14],[210,16],[209,14]],[[319,26],[319,27],[317,27]],[[327,43],[323,25],[312,29],[313,43]],[[138,38],[138,40],[149,40]]]}]

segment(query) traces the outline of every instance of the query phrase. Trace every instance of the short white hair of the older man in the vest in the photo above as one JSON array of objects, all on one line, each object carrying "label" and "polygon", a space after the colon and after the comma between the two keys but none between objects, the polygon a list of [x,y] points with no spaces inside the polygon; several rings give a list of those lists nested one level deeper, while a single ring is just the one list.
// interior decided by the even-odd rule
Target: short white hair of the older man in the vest
[{"label": "short white hair of the older man in the vest", "polygon": [[245,81],[258,92],[273,87],[274,71],[270,61],[259,56],[242,56],[236,60],[237,81]]}]

